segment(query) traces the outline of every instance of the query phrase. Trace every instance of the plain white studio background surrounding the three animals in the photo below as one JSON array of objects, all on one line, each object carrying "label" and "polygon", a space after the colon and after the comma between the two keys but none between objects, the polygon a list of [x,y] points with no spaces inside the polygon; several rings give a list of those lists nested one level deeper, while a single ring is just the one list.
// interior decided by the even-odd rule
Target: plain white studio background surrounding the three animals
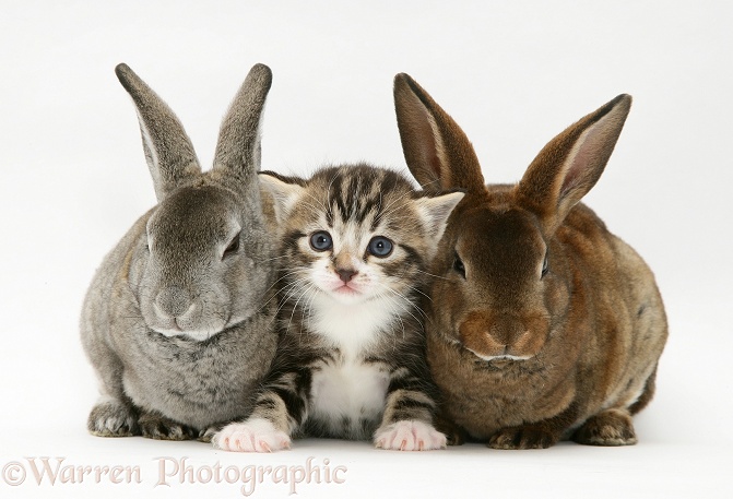
[{"label": "plain white studio background surrounding the three animals", "polygon": [[[346,466],[298,497],[731,497],[733,3],[719,1],[0,1],[2,497],[240,497],[159,480],[161,456],[223,467]],[[586,201],[655,271],[671,335],[639,443],[407,454],[298,441],[273,455],[99,439],[78,317],[103,256],[155,203],[127,62],[174,108],[203,165],[256,62],[274,83],[263,168],[367,159],[404,168],[392,78],[462,126],[487,181],[511,182],[553,135],[619,93],[635,102]],[[36,485],[25,458],[138,466],[141,484]],[[26,471],[20,486],[7,484]],[[39,463],[39,461],[36,461]],[[168,462],[170,465],[172,462]],[[168,468],[169,471],[169,468]],[[10,478],[9,478],[10,477]],[[186,478],[186,477],[185,477]],[[265,477],[255,497],[287,497]],[[321,478],[324,482],[324,478]]]}]

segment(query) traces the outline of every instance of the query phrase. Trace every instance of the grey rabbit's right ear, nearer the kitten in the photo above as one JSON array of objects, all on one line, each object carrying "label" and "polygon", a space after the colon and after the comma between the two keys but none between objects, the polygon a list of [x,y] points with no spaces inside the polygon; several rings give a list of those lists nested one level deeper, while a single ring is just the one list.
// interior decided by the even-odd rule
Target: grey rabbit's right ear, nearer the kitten
[{"label": "grey rabbit's right ear, nearer the kitten", "polygon": [[232,100],[218,132],[213,174],[234,177],[245,190],[257,185],[262,109],[271,85],[270,68],[255,64]]}]

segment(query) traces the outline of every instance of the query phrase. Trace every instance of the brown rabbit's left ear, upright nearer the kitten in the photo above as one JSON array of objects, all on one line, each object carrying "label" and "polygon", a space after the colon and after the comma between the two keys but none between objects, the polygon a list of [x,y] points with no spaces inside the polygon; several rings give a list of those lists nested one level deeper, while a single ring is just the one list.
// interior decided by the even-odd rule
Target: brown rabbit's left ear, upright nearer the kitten
[{"label": "brown rabbit's left ear, upright nearer the kitten", "polygon": [[405,73],[394,76],[394,109],[407,167],[426,191],[484,189],[478,158],[463,130]]}]

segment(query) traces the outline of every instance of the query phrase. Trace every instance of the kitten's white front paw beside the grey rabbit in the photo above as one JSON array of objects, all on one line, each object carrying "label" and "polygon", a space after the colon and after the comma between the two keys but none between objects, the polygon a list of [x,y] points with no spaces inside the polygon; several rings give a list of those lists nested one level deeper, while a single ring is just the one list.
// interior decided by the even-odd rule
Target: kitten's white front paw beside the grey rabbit
[{"label": "kitten's white front paw beside the grey rabbit", "polygon": [[229,452],[275,452],[291,448],[291,438],[262,418],[232,423],[211,439],[215,448]]}]

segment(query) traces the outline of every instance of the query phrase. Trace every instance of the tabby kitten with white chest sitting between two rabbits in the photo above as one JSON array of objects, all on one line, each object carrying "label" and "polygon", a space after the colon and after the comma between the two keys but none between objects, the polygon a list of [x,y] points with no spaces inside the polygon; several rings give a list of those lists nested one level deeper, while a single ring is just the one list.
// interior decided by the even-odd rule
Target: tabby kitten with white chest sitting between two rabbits
[{"label": "tabby kitten with white chest sitting between two rabbits", "polygon": [[214,444],[270,452],[312,436],[444,448],[416,304],[463,194],[429,197],[363,164],[260,179],[282,225],[281,343],[251,416]]}]

